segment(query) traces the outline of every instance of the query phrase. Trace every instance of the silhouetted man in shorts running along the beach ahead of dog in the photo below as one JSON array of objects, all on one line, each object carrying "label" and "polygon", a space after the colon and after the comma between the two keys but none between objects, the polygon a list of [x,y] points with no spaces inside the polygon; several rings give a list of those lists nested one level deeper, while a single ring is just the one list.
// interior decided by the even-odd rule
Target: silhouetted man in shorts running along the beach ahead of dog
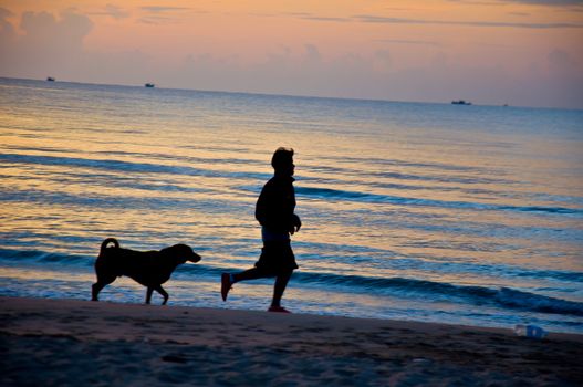
[{"label": "silhouetted man in shorts running along the beach ahead of dog", "polygon": [[256,205],[256,219],[261,224],[263,239],[261,255],[252,269],[236,274],[222,273],[220,293],[222,301],[227,301],[235,283],[274,276],[273,299],[268,311],[290,313],[281,306],[281,297],[293,270],[298,269],[290,236],[302,227],[300,217],[293,213],[293,149],[278,148],[271,158],[271,166],[275,172],[263,186]]}]

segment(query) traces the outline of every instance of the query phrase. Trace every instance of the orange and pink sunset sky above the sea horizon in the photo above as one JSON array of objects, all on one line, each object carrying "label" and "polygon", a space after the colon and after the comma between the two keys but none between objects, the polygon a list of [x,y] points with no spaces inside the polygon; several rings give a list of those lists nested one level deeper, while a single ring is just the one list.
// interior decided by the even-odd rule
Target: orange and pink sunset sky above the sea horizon
[{"label": "orange and pink sunset sky above the sea horizon", "polygon": [[583,108],[583,1],[0,0],[0,76]]}]

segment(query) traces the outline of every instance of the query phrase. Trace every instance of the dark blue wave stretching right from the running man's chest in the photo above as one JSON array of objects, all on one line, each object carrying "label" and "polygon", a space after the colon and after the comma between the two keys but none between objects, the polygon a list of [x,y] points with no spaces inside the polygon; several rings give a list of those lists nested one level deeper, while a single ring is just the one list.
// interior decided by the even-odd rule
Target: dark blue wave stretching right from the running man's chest
[{"label": "dark blue wave stretching right from the running man's chest", "polygon": [[388,203],[396,206],[440,207],[469,210],[494,210],[494,211],[519,211],[519,212],[546,212],[560,215],[583,215],[582,208],[545,207],[545,206],[510,206],[487,205],[471,201],[448,201],[435,199],[407,198],[391,195],[348,191],[332,188],[296,187],[300,196],[315,197],[322,199],[336,199],[347,201],[363,201],[371,203]]}]

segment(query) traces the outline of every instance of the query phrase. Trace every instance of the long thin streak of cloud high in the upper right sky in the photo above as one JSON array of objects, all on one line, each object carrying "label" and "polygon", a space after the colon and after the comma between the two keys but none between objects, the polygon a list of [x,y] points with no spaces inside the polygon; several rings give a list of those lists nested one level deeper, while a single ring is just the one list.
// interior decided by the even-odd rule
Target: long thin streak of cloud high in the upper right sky
[{"label": "long thin streak of cloud high in the upper right sky", "polygon": [[371,14],[360,14],[355,20],[363,23],[384,24],[433,24],[433,25],[465,25],[465,27],[494,27],[494,28],[522,28],[522,29],[581,29],[583,23],[514,23],[498,21],[445,21],[404,18],[384,18]]}]

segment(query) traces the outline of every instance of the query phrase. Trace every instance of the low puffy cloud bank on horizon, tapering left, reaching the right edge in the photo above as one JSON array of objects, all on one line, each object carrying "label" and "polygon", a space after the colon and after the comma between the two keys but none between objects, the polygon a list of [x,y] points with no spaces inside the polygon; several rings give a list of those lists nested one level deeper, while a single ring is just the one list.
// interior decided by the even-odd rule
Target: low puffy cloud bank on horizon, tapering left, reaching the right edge
[{"label": "low puffy cloud bank on horizon, tapering left, reaching the right edge", "polygon": [[506,63],[467,65],[446,52],[407,66],[387,50],[369,54],[323,55],[314,44],[281,46],[254,63],[236,55],[191,54],[180,65],[158,72],[165,87],[191,87],[287,95],[570,106],[581,108],[583,84],[573,53],[554,50],[529,72]]}]

